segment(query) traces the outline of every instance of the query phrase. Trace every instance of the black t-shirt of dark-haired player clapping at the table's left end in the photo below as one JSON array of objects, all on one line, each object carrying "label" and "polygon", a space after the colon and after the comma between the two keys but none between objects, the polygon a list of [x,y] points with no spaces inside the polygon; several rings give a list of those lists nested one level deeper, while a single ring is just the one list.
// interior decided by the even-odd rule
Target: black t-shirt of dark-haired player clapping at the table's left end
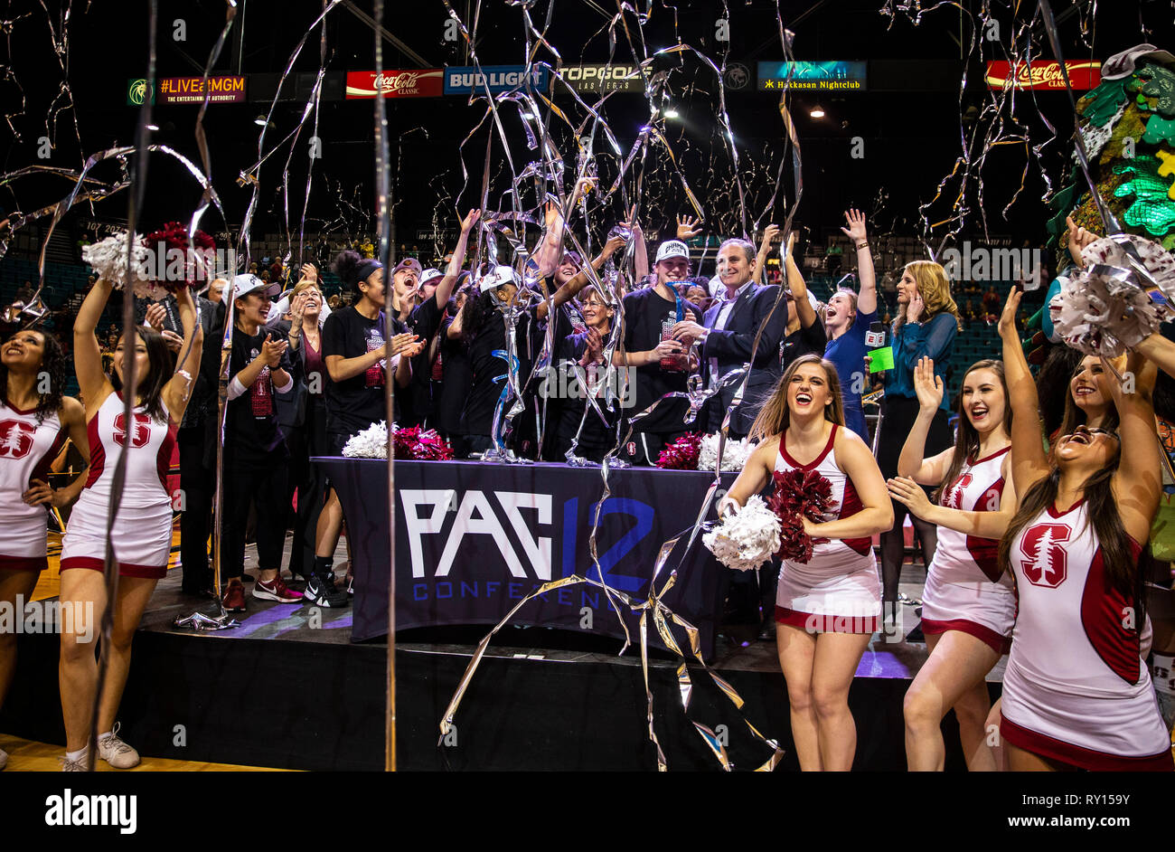
[{"label": "black t-shirt of dark-haired player clapping at the table's left end", "polygon": [[[404,330],[404,324],[391,318],[392,334]],[[322,326],[322,361],[331,355],[357,358],[384,344],[383,314],[369,320],[354,306],[333,311]],[[327,431],[355,435],[372,423],[388,418],[384,403],[384,371],[376,362],[363,373],[342,382],[327,382]],[[398,396],[398,394],[397,394]]]}]

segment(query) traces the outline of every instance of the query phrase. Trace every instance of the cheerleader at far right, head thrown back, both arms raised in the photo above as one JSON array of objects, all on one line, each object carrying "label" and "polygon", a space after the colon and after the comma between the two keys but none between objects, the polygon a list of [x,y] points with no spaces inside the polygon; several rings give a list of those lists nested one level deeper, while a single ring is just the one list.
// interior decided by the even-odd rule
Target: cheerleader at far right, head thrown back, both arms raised
[{"label": "cheerleader at far right, head thrown back, both arms raised", "polygon": [[1000,318],[1020,506],[1000,542],[1020,611],[1003,675],[1000,733],[1013,771],[1175,769],[1170,737],[1140,658],[1137,556],[1162,481],[1155,464],[1155,367],[1132,354],[1133,393],[1110,382],[1117,431],[1077,427],[1046,457],[1036,387],[1015,329],[1020,293]]}]

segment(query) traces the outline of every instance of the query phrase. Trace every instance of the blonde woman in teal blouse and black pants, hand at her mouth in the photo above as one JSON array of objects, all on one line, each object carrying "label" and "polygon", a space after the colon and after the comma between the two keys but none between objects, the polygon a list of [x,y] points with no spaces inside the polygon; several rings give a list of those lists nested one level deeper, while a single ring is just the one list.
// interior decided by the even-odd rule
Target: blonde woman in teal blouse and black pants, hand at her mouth
[{"label": "blonde woman in teal blouse and black pants, hand at her mouth", "polygon": [[[885,415],[878,440],[878,467],[887,479],[898,472],[898,456],[918,418],[918,396],[914,393],[914,368],[919,358],[933,358],[934,373],[946,384],[947,364],[954,349],[955,335],[962,328],[959,307],[951,297],[951,282],[946,271],[933,261],[907,263],[898,282],[898,316],[893,322],[893,369],[885,374]],[[947,423],[949,401],[946,394],[931,431],[926,437],[926,455],[940,452],[954,443]],[[898,601],[898,579],[901,577],[904,542],[901,526],[906,506],[893,503],[893,529],[881,534],[881,598],[886,617]],[[934,558],[938,536],[934,524],[911,515],[914,531],[922,542],[922,556],[929,564]]]}]

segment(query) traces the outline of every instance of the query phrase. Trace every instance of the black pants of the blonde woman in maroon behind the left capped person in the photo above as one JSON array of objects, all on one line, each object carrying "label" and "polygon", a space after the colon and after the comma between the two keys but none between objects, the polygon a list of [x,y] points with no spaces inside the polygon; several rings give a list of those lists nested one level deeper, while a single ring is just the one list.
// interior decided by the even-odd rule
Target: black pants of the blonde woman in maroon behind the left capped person
[{"label": "black pants of the blonde woman in maroon behind the left capped person", "polygon": [[[310,457],[329,456],[331,452],[330,442],[327,440],[327,407],[322,397],[308,396],[306,421],[301,427],[290,427],[284,431],[290,462],[286,501],[282,505],[291,515],[287,526],[294,528],[289,569],[291,573],[306,577],[314,566],[314,536],[327,496],[327,479],[318,467],[310,463]],[[293,509],[295,492],[297,492],[296,510]]]}]

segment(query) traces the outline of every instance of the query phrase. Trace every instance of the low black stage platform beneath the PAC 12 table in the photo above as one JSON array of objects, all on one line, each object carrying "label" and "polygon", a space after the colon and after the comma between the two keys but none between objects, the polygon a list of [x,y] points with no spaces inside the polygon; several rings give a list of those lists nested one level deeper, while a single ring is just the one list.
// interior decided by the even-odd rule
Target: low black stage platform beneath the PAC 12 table
[{"label": "low black stage platform beneath the PAC 12 table", "polygon": [[[287,543],[288,546],[288,543]],[[247,565],[255,564],[253,557]],[[345,558],[340,552],[336,565]],[[123,738],[145,756],[301,770],[381,770],[384,760],[387,644],[350,640],[350,608],[316,609],[249,598],[241,626],[212,635],[176,631],[196,599],[180,572],[161,581],[135,637],[122,699]],[[907,564],[901,591],[921,592],[921,565]],[[295,585],[295,588],[297,588]],[[251,586],[247,586],[251,589]],[[918,623],[901,606],[902,633]],[[456,736],[438,745],[438,723],[484,626],[401,631],[396,649],[397,743],[402,770],[656,770],[649,740],[639,648],[546,628],[506,628],[490,646],[456,716]],[[733,631],[732,632],[737,632]],[[634,637],[636,638],[636,637]],[[714,670],[743,696],[746,718],[791,746],[787,692],[774,642],[719,638]],[[905,770],[902,697],[926,646],[875,635],[853,682],[857,770]],[[63,743],[58,698],[58,637],[22,635],[16,678],[0,731]],[[989,677],[999,693],[1003,660]],[[677,663],[650,658],[656,730],[670,770],[718,763],[691,724],[728,736],[736,769],[770,751],[700,666],[691,667],[690,718],[682,711]],[[719,729],[719,726],[725,726]],[[954,719],[944,723],[947,770],[965,769]]]}]

